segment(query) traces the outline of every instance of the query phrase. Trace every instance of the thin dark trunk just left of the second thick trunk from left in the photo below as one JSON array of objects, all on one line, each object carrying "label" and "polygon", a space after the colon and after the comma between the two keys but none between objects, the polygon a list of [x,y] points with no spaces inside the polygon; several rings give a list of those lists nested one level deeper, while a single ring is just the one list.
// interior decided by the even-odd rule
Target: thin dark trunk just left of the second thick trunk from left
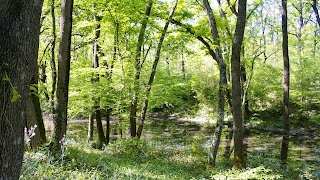
[{"label": "thin dark trunk just left of the second thick trunk from left", "polygon": [[50,67],[51,67],[51,78],[52,78],[52,86],[51,86],[51,93],[50,93],[50,108],[51,113],[55,116],[55,107],[54,107],[54,95],[56,93],[57,88],[57,66],[56,66],[56,16],[55,16],[55,2],[51,0],[51,19],[52,19],[52,42],[51,42],[51,60],[50,60]]}]

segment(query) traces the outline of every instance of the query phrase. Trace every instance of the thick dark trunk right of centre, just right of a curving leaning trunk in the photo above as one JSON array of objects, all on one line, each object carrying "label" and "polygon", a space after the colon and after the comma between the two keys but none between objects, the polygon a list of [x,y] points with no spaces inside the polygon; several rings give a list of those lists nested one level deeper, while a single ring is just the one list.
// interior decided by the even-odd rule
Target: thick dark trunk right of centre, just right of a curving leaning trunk
[{"label": "thick dark trunk right of centre, just right of a curving leaning trunk", "polygon": [[240,55],[246,22],[247,1],[241,0],[238,5],[238,19],[232,43],[231,76],[232,76],[232,115],[234,132],[234,162],[236,169],[245,168],[243,149],[244,124],[242,119],[241,69]]}]

